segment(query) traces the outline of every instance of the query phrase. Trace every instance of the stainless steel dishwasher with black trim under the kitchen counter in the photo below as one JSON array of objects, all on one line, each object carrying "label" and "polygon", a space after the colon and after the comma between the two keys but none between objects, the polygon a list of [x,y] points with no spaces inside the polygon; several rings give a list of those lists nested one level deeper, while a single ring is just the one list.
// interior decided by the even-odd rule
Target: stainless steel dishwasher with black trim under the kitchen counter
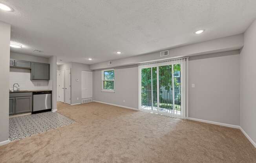
[{"label": "stainless steel dishwasher with black trim under the kitchen counter", "polygon": [[51,91],[33,92],[33,112],[51,111]]}]

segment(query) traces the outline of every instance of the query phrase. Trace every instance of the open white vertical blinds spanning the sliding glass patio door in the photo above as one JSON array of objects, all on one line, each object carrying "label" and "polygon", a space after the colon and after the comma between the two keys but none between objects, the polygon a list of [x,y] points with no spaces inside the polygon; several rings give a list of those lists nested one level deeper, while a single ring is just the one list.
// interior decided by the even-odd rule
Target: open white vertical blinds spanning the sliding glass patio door
[{"label": "open white vertical blinds spanning the sliding glass patio door", "polygon": [[187,117],[188,58],[139,64],[139,108]]}]

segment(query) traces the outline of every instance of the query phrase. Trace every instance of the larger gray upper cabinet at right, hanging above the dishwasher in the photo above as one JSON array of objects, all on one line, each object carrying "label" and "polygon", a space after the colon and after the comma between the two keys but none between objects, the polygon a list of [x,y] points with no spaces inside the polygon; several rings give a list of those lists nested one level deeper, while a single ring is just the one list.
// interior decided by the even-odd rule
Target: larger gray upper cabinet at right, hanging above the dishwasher
[{"label": "larger gray upper cabinet at right, hanging above the dishwasher", "polygon": [[31,80],[49,80],[49,68],[50,65],[47,63],[31,63]]}]

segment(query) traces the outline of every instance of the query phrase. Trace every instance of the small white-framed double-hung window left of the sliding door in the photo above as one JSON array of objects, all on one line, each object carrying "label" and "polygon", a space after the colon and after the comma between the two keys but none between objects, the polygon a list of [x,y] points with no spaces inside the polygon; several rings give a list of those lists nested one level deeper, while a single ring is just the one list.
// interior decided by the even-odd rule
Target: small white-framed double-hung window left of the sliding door
[{"label": "small white-framed double-hung window left of the sliding door", "polygon": [[115,91],[115,70],[102,71],[102,91]]}]

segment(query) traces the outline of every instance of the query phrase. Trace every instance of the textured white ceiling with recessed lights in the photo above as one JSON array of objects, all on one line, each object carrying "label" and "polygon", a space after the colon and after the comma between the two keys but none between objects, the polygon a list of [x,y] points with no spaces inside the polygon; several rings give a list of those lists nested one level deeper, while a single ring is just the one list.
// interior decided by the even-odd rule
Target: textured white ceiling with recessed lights
[{"label": "textured white ceiling with recessed lights", "polygon": [[[0,2],[15,9],[0,11],[0,21],[11,24],[11,40],[24,45],[11,51],[87,64],[243,33],[256,18],[256,0]],[[195,35],[197,29],[206,31]]]}]

